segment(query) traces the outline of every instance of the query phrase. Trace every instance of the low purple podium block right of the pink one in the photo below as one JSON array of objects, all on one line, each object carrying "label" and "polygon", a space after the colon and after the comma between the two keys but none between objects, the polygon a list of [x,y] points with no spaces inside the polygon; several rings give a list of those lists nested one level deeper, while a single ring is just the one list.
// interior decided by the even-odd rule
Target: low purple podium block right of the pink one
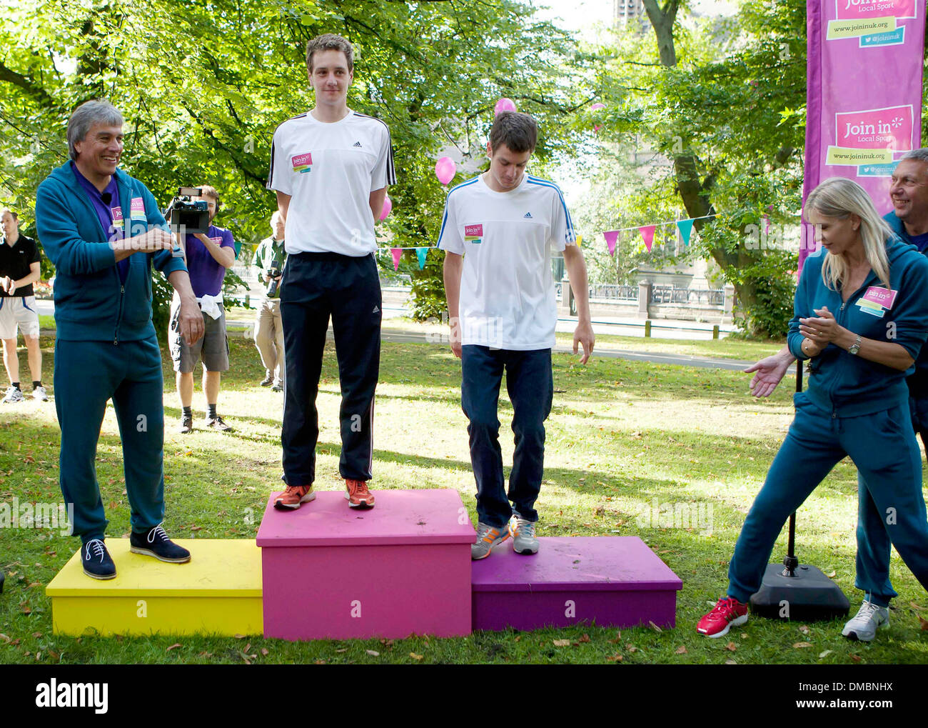
[{"label": "low purple podium block right of the pink one", "polygon": [[[471,566],[473,629],[537,630],[677,624],[683,582],[634,536],[539,538],[535,555],[509,540]],[[266,607],[265,607],[266,609]]]}]

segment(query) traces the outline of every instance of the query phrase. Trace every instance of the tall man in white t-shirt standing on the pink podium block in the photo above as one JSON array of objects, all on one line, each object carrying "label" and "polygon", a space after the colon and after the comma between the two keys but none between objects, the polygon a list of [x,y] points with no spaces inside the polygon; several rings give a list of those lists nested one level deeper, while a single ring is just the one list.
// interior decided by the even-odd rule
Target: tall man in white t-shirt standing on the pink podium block
[{"label": "tall man in white t-shirt standing on the pink podium block", "polygon": [[387,125],[347,106],[354,49],[341,35],[306,44],[316,106],[274,133],[267,189],[285,221],[280,282],[284,330],[281,510],[316,498],[316,395],[329,316],[342,384],[339,471],[352,508],[370,508],[374,389],[380,372],[380,277],[374,220],[396,181]]}]

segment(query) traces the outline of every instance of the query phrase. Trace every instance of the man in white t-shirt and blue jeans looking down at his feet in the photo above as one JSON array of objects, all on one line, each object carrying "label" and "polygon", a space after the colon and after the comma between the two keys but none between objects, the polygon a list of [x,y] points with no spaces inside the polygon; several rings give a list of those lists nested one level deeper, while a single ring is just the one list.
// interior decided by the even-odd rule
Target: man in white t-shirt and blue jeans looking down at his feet
[{"label": "man in white t-shirt and blue jeans looking down at his feet", "polygon": [[[544,422],[554,393],[551,348],[558,319],[552,246],[563,253],[574,289],[574,353],[582,344],[582,364],[595,342],[586,263],[561,189],[525,174],[537,136],[535,119],[528,114],[496,116],[486,145],[490,169],[448,193],[438,238],[445,251],[451,348],[461,358],[461,407],[470,421],[470,461],[477,481],[473,559],[489,556],[509,536],[516,552],[538,551],[535,500],[544,472]],[[508,494],[496,416],[503,370],[515,434]]]}]

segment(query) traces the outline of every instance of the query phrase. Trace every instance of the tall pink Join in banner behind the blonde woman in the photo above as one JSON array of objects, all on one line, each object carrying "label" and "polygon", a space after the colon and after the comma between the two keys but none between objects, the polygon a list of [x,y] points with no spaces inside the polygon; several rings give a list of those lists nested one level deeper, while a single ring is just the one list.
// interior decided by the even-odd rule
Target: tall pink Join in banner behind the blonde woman
[{"label": "tall pink Join in banner behind the blonde woman", "polygon": [[[922,146],[925,0],[806,0],[806,178],[803,202],[828,177],[853,179],[881,215],[890,176]],[[816,250],[802,229],[799,272]]]}]

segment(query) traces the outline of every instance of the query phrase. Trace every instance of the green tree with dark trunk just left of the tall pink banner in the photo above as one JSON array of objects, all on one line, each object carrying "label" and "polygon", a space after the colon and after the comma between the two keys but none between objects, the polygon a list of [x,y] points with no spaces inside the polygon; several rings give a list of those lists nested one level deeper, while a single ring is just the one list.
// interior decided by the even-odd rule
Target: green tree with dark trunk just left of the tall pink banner
[{"label": "green tree with dark trunk just left of the tall pink banner", "polygon": [[656,60],[640,59],[655,56],[647,39],[626,35],[600,87],[604,96],[617,83],[638,89],[612,93],[607,103],[623,106],[626,118],[637,114],[638,133],[671,160],[678,199],[697,218],[696,250],[734,285],[746,329],[781,336],[792,312],[795,256],[747,241],[765,215],[774,226],[797,222],[806,5],[750,0],[736,22],[695,27],[681,24],[680,0],[644,0],[644,7]]}]

